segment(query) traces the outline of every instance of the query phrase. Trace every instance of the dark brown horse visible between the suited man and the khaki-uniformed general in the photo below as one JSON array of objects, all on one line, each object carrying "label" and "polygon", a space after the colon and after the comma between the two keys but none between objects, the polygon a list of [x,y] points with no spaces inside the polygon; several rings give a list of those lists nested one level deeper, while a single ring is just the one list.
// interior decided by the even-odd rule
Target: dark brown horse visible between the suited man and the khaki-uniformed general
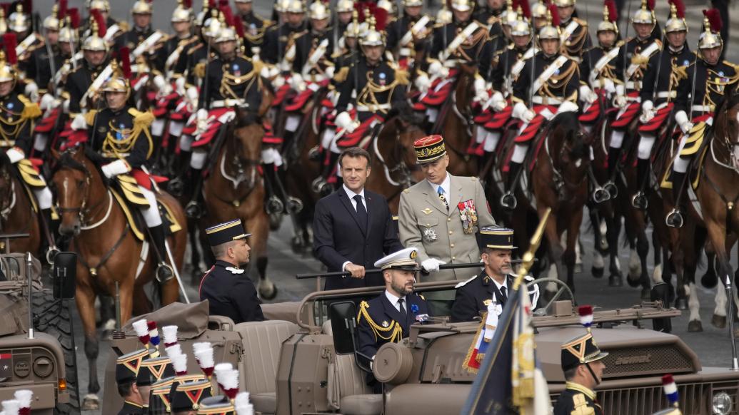
[{"label": "dark brown horse visible between the suited man and the khaki-uniformed general", "polygon": [[413,142],[426,135],[418,118],[409,106],[394,107],[378,136],[369,144],[373,174],[367,178],[365,187],[385,196],[392,213],[398,213],[403,189],[424,178],[413,149]]}]

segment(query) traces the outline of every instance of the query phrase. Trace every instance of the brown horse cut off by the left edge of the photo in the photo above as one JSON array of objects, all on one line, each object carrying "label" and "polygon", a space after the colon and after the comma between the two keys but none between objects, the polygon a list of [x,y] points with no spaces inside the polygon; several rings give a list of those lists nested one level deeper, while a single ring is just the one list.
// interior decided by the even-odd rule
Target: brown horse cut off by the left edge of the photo
[{"label": "brown horse cut off by the left edge of the photo", "polygon": [[31,205],[29,192],[18,177],[16,168],[4,152],[0,152],[0,234],[28,233],[27,238],[10,239],[10,246],[0,240],[0,252],[39,253],[41,228]]}]

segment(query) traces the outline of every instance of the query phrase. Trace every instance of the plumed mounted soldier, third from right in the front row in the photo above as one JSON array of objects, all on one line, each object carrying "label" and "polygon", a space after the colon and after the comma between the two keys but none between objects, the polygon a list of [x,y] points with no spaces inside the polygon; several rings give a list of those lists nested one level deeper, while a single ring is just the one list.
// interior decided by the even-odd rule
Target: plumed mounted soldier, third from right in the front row
[{"label": "plumed mounted soldier, third from right in the front row", "polygon": [[624,143],[627,129],[641,109],[640,94],[644,86],[647,64],[651,57],[660,53],[662,48],[662,42],[652,35],[657,19],[654,11],[650,10],[647,0],[641,1],[641,8],[634,13],[631,23],[636,36],[629,39],[624,47],[621,47],[623,50],[619,52],[619,59],[623,61],[624,83],[622,85],[616,83],[616,95],[613,97],[613,105],[619,108],[619,112],[610,123],[612,131],[608,146],[610,181],[613,181],[613,176],[616,174],[616,161],[621,155],[621,145]]}]

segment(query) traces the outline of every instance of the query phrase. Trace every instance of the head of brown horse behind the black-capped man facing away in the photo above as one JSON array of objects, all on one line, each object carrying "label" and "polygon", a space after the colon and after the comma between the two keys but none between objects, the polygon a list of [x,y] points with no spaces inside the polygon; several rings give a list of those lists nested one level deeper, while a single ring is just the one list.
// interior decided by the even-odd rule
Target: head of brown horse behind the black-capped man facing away
[{"label": "head of brown horse behind the black-capped man facing away", "polygon": [[259,161],[262,157],[262,138],[265,129],[259,114],[246,109],[236,110],[233,139],[228,140],[226,160],[236,169],[237,180],[245,181],[248,188],[253,187]]}]

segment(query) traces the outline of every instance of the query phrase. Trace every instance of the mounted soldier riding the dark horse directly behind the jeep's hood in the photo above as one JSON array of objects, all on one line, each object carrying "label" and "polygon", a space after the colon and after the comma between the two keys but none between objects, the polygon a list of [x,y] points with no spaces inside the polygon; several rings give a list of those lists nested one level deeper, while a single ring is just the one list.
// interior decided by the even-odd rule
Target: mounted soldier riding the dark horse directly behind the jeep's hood
[{"label": "mounted soldier riding the dark horse directly behind the jeep's hood", "polygon": [[560,52],[561,38],[556,10],[550,6],[548,24],[539,30],[541,51],[524,64],[519,77],[514,80],[514,102],[511,115],[522,121],[511,157],[505,194],[500,205],[514,209],[517,205],[515,186],[528,153],[528,147],[547,120],[563,112],[577,112],[577,92],[580,70],[576,61]]}]

